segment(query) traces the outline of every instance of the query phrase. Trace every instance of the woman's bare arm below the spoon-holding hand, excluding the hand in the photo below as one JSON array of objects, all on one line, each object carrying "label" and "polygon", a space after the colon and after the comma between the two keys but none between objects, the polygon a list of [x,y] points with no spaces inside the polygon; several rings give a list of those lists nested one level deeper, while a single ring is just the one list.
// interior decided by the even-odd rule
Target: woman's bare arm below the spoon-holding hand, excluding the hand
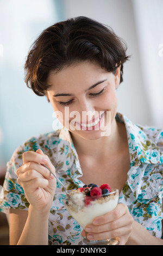
[{"label": "woman's bare arm below the spoon-holding hand, excluding the hand", "polygon": [[30,206],[11,210],[10,245],[48,245],[48,215]]}]

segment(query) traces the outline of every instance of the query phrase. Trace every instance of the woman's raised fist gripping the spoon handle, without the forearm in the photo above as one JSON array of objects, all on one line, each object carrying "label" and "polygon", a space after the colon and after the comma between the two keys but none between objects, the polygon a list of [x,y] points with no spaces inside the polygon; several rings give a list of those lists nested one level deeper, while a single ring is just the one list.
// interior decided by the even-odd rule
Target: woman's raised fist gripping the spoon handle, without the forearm
[{"label": "woman's raised fist gripping the spoon handle, without the forearm", "polygon": [[17,182],[23,187],[30,207],[49,212],[56,189],[56,179],[42,164],[46,164],[55,174],[53,164],[41,149],[36,152],[24,152],[23,165],[16,172]]}]

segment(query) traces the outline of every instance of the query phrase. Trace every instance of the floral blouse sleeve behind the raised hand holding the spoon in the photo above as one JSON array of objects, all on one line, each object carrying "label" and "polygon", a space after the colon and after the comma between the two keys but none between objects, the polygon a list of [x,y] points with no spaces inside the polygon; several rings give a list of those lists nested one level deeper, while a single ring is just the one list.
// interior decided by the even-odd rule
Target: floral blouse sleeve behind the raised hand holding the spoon
[{"label": "floral blouse sleeve behind the raised hand holding the spoon", "polygon": [[15,150],[11,160],[7,163],[5,180],[0,191],[0,211],[8,214],[10,209],[28,210],[29,203],[23,188],[17,183],[16,170],[23,164],[22,155],[25,151],[36,151],[39,148],[49,156],[55,166],[58,134],[57,131],[32,137]]}]

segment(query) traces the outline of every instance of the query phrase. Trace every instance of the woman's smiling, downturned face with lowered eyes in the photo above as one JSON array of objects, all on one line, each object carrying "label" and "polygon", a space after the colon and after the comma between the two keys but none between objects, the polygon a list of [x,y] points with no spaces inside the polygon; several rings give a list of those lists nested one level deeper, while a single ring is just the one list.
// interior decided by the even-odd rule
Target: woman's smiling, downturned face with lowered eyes
[{"label": "woman's smiling, downturned face with lowered eyes", "polygon": [[108,135],[117,112],[120,67],[114,75],[98,64],[80,62],[51,72],[47,83],[47,96],[64,127],[85,139]]}]

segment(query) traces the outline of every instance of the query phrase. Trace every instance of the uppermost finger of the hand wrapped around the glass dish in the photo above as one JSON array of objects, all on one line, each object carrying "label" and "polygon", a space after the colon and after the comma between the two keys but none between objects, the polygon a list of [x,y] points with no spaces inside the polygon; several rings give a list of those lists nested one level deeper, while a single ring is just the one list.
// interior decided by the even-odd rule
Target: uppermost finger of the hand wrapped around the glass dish
[{"label": "uppermost finger of the hand wrapped around the glass dish", "polygon": [[124,204],[118,204],[116,208],[105,215],[99,216],[93,220],[94,225],[102,225],[108,222],[112,222],[126,214],[129,211],[128,207]]}]

